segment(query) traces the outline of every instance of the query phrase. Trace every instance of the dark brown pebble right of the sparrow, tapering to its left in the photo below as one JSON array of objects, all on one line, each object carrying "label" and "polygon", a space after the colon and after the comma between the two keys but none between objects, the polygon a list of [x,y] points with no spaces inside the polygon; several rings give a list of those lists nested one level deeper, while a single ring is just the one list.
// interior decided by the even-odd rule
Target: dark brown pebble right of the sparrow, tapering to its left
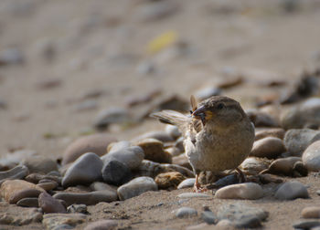
[{"label": "dark brown pebble right of the sparrow, tapering to its left", "polygon": [[287,157],[277,159],[271,163],[269,169],[265,173],[284,176],[296,176],[298,175],[297,173],[300,173],[301,176],[307,175],[307,171],[305,172],[305,170],[301,170],[301,167],[296,167],[297,162],[302,162],[301,157]]}]

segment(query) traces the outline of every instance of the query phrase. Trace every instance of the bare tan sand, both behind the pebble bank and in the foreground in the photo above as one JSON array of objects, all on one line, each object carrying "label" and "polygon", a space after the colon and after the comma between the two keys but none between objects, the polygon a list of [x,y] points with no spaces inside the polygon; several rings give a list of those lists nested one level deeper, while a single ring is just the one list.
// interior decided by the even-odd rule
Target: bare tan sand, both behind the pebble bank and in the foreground
[{"label": "bare tan sand, both behind the pebble bank and in the foreground", "polygon": [[[266,88],[261,84],[265,80],[283,79],[292,84],[304,69],[320,62],[317,1],[296,1],[297,8],[291,13],[281,6],[285,1],[170,2],[175,8],[170,15],[152,19],[144,15],[144,6],[150,3],[143,0],[2,0],[0,53],[15,47],[23,54],[24,64],[0,66],[0,99],[6,104],[0,109],[0,157],[27,149],[59,158],[70,141],[91,131],[100,110],[125,107],[126,99],[153,89],[188,99],[226,73],[246,80],[224,94],[251,108],[257,97],[283,92],[282,88]],[[175,31],[178,41],[187,43],[187,54],[173,55],[172,46],[155,54],[146,51],[150,41],[167,31]],[[155,73],[141,73],[139,69],[149,61]],[[59,85],[40,87],[48,81]],[[94,90],[103,91],[95,99],[97,107],[77,110],[83,96]],[[109,132],[119,140],[130,140],[163,127],[145,120],[131,129],[115,127]],[[48,134],[54,138],[45,138]],[[270,211],[266,228],[288,229],[300,217],[302,207],[319,201],[317,178],[301,181],[310,185],[312,199],[278,203],[266,198],[244,203]],[[129,215],[120,221],[123,228],[175,229],[197,224],[197,218],[177,221],[172,217],[177,193],[181,192],[145,193],[115,211],[123,209]],[[160,202],[165,205],[153,208]],[[200,210],[206,204],[215,210],[216,204],[228,202],[211,198],[187,205]],[[112,217],[102,212],[112,205],[91,207],[91,220]]]}]

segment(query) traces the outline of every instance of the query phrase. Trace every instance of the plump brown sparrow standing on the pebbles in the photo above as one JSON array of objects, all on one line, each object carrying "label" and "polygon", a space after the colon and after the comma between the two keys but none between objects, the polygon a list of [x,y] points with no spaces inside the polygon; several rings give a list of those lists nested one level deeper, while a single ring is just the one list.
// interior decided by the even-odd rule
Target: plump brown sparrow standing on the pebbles
[{"label": "plump brown sparrow standing on the pebbles", "polygon": [[189,115],[162,110],[151,117],[176,125],[182,132],[187,159],[196,176],[194,192],[205,191],[198,183],[201,171],[236,170],[245,180],[238,166],[251,152],[254,125],[240,103],[224,96],[213,96],[198,105],[191,96],[190,102]]}]

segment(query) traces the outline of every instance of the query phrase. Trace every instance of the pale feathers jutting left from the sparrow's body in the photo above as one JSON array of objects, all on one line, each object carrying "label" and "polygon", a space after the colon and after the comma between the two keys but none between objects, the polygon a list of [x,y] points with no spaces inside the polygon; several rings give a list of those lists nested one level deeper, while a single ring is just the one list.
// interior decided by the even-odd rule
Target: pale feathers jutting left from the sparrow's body
[{"label": "pale feathers jutting left from the sparrow's body", "polygon": [[150,117],[156,118],[166,124],[176,125],[180,129],[183,128],[189,120],[189,117],[174,110],[154,112],[150,114]]}]

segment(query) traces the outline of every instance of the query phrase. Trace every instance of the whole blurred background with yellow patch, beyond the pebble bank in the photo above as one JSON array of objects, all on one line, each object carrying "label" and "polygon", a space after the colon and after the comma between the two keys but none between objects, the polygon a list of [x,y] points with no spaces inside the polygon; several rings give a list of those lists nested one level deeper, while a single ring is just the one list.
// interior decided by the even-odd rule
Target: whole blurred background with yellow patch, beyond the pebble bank
[{"label": "whole blurred background with yellow patch, beyond the pebble bank", "polygon": [[251,109],[320,64],[317,0],[1,0],[0,156],[131,140],[190,94]]}]

